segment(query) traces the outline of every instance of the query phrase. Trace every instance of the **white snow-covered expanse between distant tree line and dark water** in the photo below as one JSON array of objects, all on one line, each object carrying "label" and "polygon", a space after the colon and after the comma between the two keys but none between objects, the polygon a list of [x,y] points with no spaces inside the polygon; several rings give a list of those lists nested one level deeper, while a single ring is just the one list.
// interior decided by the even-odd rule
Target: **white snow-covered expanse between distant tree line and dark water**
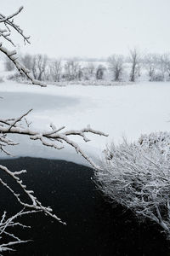
[{"label": "white snow-covered expanse between distant tree line and dark water", "polygon": [[[28,120],[36,129],[46,130],[51,122],[65,129],[82,129],[90,125],[104,131],[109,137],[91,135],[91,142],[81,147],[95,160],[101,158],[107,143],[138,139],[143,133],[170,131],[170,83],[141,82],[125,86],[40,88],[29,84],[4,82],[0,84],[0,116],[18,117],[33,108]],[[14,156],[46,157],[83,163],[82,156],[66,146],[60,151],[42,147],[26,137],[15,137],[20,146],[14,147]],[[9,148],[8,148],[9,149]],[[4,155],[3,155],[4,156]],[[2,157],[2,156],[1,156]]]}]

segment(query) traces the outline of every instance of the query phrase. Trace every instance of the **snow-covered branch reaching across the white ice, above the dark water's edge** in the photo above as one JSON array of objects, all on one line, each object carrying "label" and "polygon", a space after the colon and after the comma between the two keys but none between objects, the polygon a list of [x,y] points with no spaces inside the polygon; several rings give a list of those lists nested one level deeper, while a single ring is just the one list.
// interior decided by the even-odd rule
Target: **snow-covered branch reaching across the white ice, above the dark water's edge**
[{"label": "snow-covered branch reaching across the white ice, above the dark water's edge", "polygon": [[88,160],[88,162],[94,166],[95,169],[99,168],[99,166],[96,166],[94,161],[91,160],[88,155],[82,151],[79,145],[71,139],[71,136],[80,136],[87,143],[89,139],[86,137],[86,133],[93,133],[99,136],[107,136],[105,133],[101,131],[95,131],[89,125],[87,128],[83,128],[82,130],[63,131],[65,126],[57,129],[53,124],[51,124],[49,131],[36,131],[22,122],[22,119],[26,117],[26,115],[30,112],[31,110],[22,114],[19,118],[16,119],[0,119],[0,145],[3,151],[7,145],[15,145],[15,143],[8,138],[8,134],[27,135],[31,140],[39,140],[44,146],[51,148],[62,149],[64,148],[64,143],[67,143],[75,148],[77,153],[82,154],[82,157]]}]

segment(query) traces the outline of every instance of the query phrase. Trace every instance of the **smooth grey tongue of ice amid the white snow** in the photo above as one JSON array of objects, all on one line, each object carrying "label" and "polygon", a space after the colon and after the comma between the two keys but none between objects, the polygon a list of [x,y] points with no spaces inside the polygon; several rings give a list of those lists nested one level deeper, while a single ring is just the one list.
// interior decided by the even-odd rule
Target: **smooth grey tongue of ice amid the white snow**
[{"label": "smooth grey tongue of ice amid the white snow", "polygon": [[[11,117],[25,113],[33,108],[34,112],[58,111],[60,108],[77,107],[80,102],[76,97],[38,95],[31,92],[1,92],[1,117]],[[8,104],[7,104],[8,102]]]}]

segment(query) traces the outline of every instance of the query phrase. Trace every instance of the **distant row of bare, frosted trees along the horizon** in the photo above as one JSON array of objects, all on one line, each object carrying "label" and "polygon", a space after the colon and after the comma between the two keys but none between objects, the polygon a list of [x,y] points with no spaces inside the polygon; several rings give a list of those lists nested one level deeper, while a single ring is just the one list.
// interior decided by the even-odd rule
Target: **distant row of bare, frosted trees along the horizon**
[{"label": "distant row of bare, frosted trees along the horizon", "polygon": [[[79,61],[78,59],[50,59],[47,55],[21,55],[20,62],[31,71],[34,79],[46,82],[61,81],[149,81],[170,80],[170,53],[141,54],[130,49],[129,55],[111,55],[107,61]],[[7,71],[14,70],[14,63],[5,60]],[[19,76],[19,74],[18,74]]]}]

